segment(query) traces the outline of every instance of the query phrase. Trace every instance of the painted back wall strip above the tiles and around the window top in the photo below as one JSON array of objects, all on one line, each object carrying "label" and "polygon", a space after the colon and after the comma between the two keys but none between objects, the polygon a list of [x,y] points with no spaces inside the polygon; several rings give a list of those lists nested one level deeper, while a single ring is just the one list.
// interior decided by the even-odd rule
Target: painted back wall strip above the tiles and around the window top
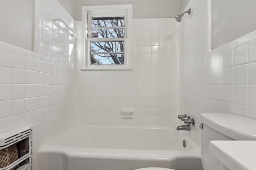
[{"label": "painted back wall strip above the tiles and around the window top", "polygon": [[180,13],[180,0],[76,0],[76,20],[81,6],[133,4],[133,18],[172,18]]}]

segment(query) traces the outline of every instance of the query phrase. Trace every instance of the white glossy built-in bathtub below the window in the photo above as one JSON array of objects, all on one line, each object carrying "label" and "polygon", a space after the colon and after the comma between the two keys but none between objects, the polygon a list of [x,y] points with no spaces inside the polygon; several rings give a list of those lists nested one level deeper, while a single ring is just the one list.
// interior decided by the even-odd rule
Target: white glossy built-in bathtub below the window
[{"label": "white glossy built-in bathtub below the window", "polygon": [[[40,148],[40,170],[202,170],[200,149],[186,131],[160,126],[74,127]],[[182,141],[186,140],[186,148]]]}]

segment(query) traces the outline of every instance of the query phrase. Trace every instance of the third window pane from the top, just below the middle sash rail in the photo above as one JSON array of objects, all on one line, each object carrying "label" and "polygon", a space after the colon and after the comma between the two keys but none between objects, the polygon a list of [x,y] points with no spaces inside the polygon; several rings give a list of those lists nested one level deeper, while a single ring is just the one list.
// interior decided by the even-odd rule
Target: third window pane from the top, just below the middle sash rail
[{"label": "third window pane from the top, just below the middle sash rail", "polygon": [[90,42],[90,52],[124,52],[124,41]]}]

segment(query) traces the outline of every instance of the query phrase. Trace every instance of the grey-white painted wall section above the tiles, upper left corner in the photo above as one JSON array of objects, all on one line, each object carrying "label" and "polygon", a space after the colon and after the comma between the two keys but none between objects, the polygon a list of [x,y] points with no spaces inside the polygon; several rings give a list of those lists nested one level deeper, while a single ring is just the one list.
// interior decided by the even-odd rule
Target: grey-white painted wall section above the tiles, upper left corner
[{"label": "grey-white painted wall section above the tiles, upper left corner", "polygon": [[33,51],[34,0],[0,0],[0,41]]}]

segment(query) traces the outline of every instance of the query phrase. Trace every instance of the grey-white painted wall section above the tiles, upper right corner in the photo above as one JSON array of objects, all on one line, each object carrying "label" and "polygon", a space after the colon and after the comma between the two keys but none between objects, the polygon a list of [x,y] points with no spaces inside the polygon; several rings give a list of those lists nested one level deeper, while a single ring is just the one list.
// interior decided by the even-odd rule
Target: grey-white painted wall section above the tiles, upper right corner
[{"label": "grey-white painted wall section above the tiles, upper right corner", "polygon": [[256,30],[256,0],[212,0],[212,49]]}]

